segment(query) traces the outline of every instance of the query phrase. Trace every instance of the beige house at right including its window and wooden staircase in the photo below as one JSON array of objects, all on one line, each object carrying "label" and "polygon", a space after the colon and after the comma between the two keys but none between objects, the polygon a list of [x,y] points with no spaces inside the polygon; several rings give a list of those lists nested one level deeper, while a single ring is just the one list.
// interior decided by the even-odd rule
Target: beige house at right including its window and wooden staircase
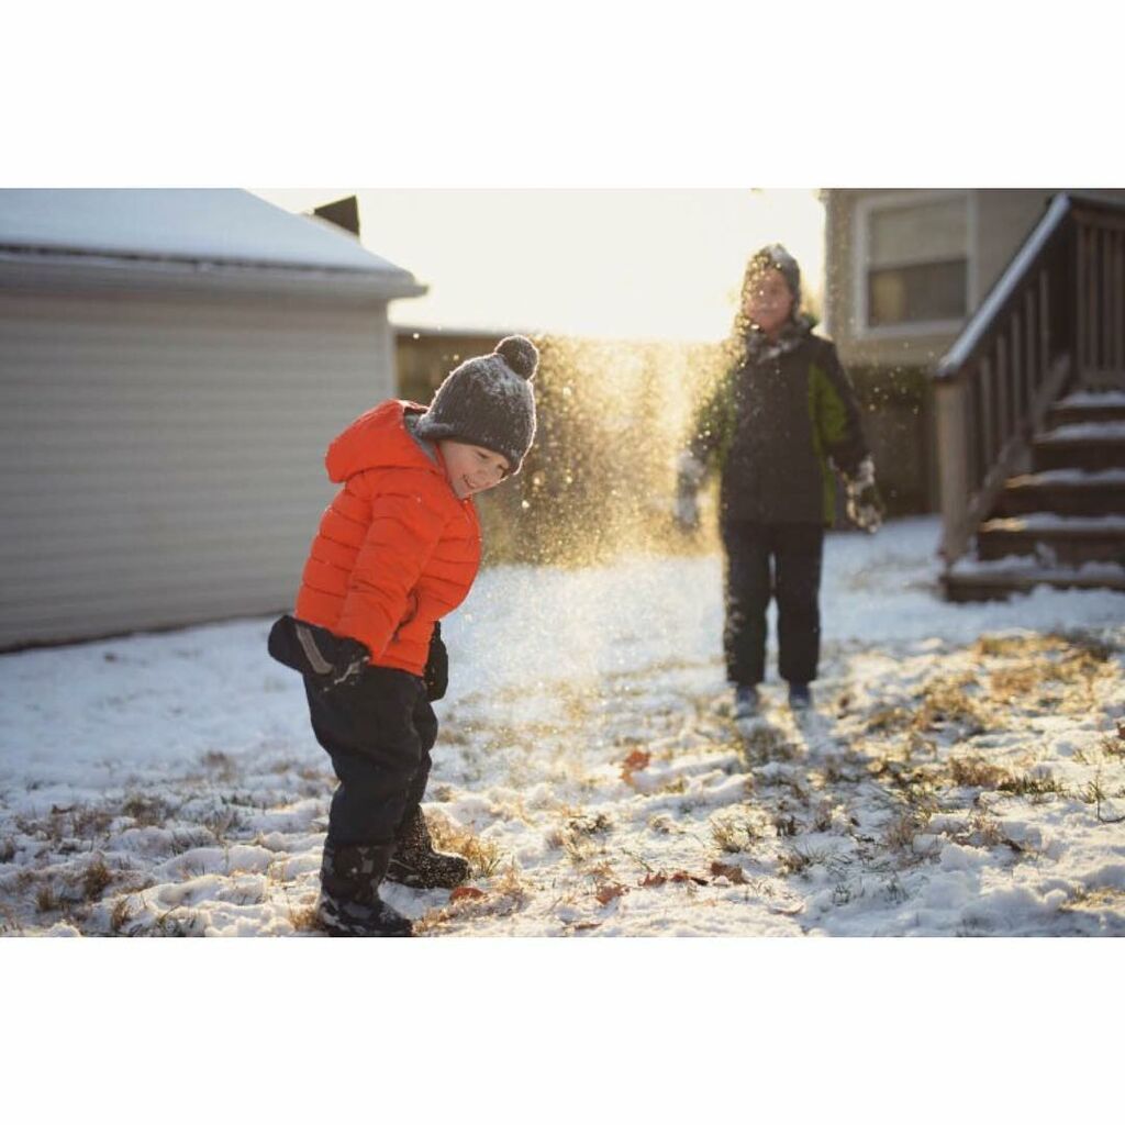
[{"label": "beige house at right including its window and wooden staircase", "polygon": [[824,200],[827,330],[915,390],[950,596],[1125,588],[1125,189]]}]

